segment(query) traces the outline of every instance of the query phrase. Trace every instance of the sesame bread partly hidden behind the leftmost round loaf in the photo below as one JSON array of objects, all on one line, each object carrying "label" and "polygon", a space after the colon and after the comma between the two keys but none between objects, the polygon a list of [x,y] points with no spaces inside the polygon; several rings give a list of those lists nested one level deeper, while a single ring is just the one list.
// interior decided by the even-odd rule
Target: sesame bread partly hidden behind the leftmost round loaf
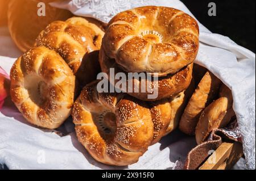
[{"label": "sesame bread partly hidden behind the leftmost round loaf", "polygon": [[100,49],[103,36],[104,32],[95,24],[84,18],[70,18],[49,24],[36,39],[36,46],[55,50],[76,73],[82,57]]}]

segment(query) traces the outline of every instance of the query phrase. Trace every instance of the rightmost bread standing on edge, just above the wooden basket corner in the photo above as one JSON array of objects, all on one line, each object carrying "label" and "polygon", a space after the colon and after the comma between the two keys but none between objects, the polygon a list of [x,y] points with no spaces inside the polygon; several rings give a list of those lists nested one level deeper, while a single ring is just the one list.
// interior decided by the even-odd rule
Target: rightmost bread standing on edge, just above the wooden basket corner
[{"label": "rightmost bread standing on edge, just above the wooden basket corner", "polygon": [[222,97],[211,103],[201,113],[196,126],[196,142],[201,144],[213,129],[225,127],[235,115],[232,108],[228,108],[228,98]]}]

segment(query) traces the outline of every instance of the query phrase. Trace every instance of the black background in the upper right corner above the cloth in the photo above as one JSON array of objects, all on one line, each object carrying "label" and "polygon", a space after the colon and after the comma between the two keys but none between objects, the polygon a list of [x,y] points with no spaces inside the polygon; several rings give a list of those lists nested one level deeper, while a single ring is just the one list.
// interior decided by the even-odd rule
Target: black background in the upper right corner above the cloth
[{"label": "black background in the upper right corner above the cloth", "polygon": [[[255,53],[255,0],[180,0],[213,33],[230,37]],[[208,3],[216,3],[216,16]]]}]

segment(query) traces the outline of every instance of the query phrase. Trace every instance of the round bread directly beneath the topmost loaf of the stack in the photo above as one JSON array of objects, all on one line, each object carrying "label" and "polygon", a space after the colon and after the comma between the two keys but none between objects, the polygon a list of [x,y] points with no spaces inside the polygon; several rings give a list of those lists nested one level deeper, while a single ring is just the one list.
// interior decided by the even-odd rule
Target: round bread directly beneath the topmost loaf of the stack
[{"label": "round bread directly beneath the topmost loaf of the stack", "polygon": [[[109,80],[110,78],[114,79],[113,86],[140,100],[154,101],[175,96],[187,89],[192,79],[193,64],[189,64],[176,74],[168,74],[166,77],[152,77],[146,73],[135,73],[144,77],[141,79],[134,77],[128,79],[129,73],[120,69],[114,59],[106,56],[102,48],[100,50],[99,61],[101,70],[108,74]],[[114,77],[110,77],[111,69],[114,71]],[[117,73],[121,73],[126,77],[125,86],[117,85],[117,82],[120,81],[119,79],[115,79]],[[110,83],[112,82],[110,81]]]}]

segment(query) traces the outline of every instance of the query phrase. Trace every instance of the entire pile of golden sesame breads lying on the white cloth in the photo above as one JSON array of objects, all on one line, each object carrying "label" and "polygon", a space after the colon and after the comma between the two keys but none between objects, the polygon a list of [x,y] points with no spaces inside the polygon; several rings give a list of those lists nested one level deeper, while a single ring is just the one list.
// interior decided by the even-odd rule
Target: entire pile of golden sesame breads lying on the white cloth
[{"label": "entire pile of golden sesame breads lying on the white cloth", "polygon": [[[94,159],[130,165],[178,126],[200,144],[234,116],[228,87],[193,67],[198,49],[196,20],[169,7],[121,12],[105,33],[84,18],[55,21],[13,65],[11,98],[39,127],[58,128],[72,115],[77,138]],[[118,87],[122,92],[99,91],[97,74],[111,78],[112,68],[114,75],[146,73],[157,81],[146,80],[146,91],[135,78],[133,91],[128,82]],[[150,98],[153,90],[158,95]]]}]

